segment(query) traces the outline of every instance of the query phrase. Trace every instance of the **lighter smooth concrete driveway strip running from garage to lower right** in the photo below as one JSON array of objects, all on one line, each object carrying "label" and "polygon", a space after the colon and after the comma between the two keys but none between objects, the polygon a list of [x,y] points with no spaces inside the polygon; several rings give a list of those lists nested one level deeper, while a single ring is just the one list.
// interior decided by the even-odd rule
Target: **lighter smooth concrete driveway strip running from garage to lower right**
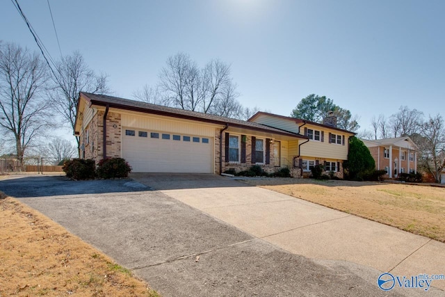
[{"label": "lighter smooth concrete driveway strip running from garage to lower right", "polygon": [[[423,236],[227,177],[131,177],[259,239],[326,265],[350,262],[407,278],[445,275],[445,244]],[[434,280],[431,286],[445,290],[445,280]]]}]

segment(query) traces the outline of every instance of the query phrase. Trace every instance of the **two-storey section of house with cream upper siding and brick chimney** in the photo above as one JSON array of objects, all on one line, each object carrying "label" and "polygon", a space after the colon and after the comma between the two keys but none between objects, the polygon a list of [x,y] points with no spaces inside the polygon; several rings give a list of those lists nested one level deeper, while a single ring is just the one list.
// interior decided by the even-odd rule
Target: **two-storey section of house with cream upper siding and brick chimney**
[{"label": "two-storey section of house with cream upper siding and brick chimney", "polygon": [[321,164],[325,171],[343,177],[343,161],[348,159],[348,139],[355,133],[337,128],[337,117],[332,113],[323,120],[323,124],[261,111],[249,121],[307,137],[306,141],[281,144],[282,154],[287,154],[293,166],[302,172],[310,172],[314,166]]}]

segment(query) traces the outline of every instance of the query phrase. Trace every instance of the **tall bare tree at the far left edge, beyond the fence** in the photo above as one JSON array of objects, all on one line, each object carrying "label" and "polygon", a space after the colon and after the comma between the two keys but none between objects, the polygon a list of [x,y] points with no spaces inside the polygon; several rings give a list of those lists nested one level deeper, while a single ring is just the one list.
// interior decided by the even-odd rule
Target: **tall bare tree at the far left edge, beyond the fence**
[{"label": "tall bare tree at the far left edge, beyond the fence", "polygon": [[26,149],[47,127],[49,101],[42,98],[49,79],[47,65],[38,54],[14,44],[0,47],[0,127],[15,143],[23,165]]}]

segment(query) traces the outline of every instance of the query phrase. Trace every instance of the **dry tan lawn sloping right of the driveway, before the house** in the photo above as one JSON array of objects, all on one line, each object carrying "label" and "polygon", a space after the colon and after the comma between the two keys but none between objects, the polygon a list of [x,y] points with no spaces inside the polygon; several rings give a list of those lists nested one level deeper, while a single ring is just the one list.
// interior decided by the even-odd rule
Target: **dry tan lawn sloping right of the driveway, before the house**
[{"label": "dry tan lawn sloping right of the driveway, before the house", "polygon": [[443,187],[313,179],[244,182],[445,242]]}]

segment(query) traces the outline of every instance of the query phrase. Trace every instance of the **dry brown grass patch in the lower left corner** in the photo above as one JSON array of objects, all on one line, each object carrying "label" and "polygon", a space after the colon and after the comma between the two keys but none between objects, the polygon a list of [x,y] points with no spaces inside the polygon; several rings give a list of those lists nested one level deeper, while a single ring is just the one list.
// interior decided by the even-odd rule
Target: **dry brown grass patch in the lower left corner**
[{"label": "dry brown grass patch in the lower left corner", "polygon": [[159,296],[38,211],[0,192],[0,296]]}]

